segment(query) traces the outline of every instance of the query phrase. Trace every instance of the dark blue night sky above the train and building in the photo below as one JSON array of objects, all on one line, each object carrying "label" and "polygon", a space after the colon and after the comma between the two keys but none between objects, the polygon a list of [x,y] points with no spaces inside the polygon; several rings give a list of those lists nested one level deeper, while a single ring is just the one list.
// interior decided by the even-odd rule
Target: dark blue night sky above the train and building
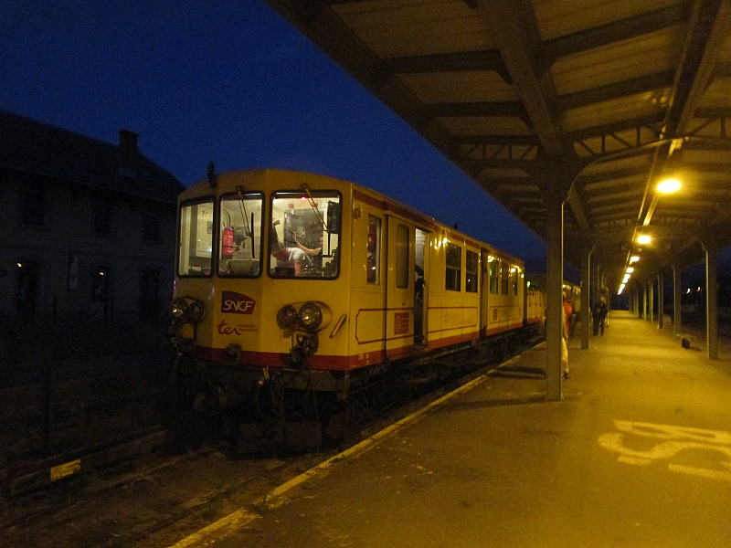
[{"label": "dark blue night sky above the train and building", "polygon": [[0,108],[192,184],[279,167],[364,184],[520,258],[543,242],[260,0],[0,3]]}]

